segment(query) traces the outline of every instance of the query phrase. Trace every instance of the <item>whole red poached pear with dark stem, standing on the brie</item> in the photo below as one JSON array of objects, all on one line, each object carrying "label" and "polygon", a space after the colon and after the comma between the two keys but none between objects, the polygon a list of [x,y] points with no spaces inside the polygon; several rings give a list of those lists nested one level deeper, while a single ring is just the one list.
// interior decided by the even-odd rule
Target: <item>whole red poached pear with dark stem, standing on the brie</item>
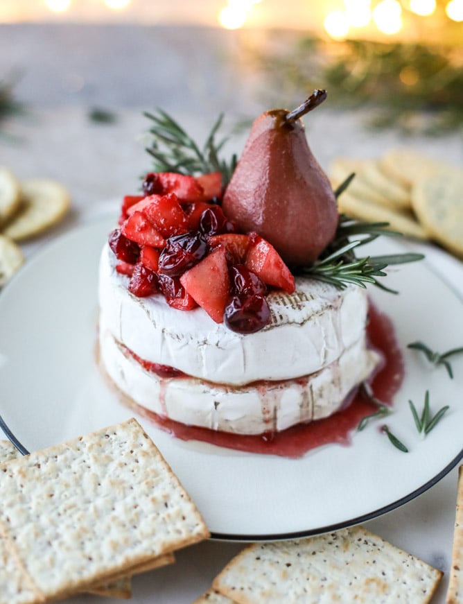
[{"label": "whole red poached pear with dark stem, standing on the brie", "polygon": [[338,226],[333,189],[300,119],[325,98],[315,90],[294,111],[270,110],[254,121],[222,202],[228,218],[272,243],[289,266],[315,261]]}]

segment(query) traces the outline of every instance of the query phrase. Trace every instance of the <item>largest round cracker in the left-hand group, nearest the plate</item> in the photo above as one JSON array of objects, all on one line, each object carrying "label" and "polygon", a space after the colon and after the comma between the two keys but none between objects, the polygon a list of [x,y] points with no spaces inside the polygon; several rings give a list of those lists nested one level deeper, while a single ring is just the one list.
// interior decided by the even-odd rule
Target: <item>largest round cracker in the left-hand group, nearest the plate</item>
[{"label": "largest round cracker in the left-hand group, nearest the plate", "polygon": [[22,241],[58,223],[70,205],[67,189],[55,180],[31,178],[21,182],[21,209],[3,234]]}]

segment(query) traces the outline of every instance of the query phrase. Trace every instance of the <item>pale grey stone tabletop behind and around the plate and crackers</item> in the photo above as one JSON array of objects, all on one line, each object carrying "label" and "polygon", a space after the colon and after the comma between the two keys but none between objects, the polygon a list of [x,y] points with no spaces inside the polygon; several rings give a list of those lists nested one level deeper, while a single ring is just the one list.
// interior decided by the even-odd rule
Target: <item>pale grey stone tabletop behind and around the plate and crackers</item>
[{"label": "pale grey stone tabletop behind and around the plate and crackers", "polygon": [[[143,111],[162,107],[204,140],[220,111],[227,112],[227,132],[243,117],[252,119],[268,108],[249,71],[233,60],[238,43],[237,35],[215,30],[0,26],[0,79],[12,69],[22,71],[17,94],[28,106],[28,114],[5,124],[12,139],[0,139],[0,164],[19,178],[57,178],[73,198],[67,221],[24,245],[26,256],[102,207],[114,207],[116,216],[121,196],[137,191],[141,174],[150,169]],[[116,121],[91,121],[91,107],[114,111]],[[404,138],[393,130],[372,133],[360,112],[335,112],[327,106],[311,114],[307,132],[324,168],[340,155],[377,157],[403,145],[463,165],[461,135],[430,139]],[[239,153],[244,140],[243,132],[233,137],[230,153]],[[463,274],[460,262],[449,262],[455,275]],[[445,266],[444,261],[443,270]],[[366,526],[448,571],[456,485],[455,468],[421,497]],[[159,604],[191,602],[239,549],[236,543],[207,542],[182,551],[175,566],[134,580],[134,601],[150,602],[143,594],[151,591]],[[445,591],[446,578],[434,604],[444,603]]]}]

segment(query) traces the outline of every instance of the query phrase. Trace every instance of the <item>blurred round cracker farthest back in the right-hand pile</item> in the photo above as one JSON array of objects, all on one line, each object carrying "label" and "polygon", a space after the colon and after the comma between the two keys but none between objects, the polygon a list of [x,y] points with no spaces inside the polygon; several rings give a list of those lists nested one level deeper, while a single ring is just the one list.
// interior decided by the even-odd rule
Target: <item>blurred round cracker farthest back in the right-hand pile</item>
[{"label": "blurred round cracker farthest back in the right-hand pile", "polygon": [[403,187],[411,188],[415,182],[433,174],[445,164],[416,149],[402,147],[387,151],[379,159],[379,166],[385,175],[400,182]]}]

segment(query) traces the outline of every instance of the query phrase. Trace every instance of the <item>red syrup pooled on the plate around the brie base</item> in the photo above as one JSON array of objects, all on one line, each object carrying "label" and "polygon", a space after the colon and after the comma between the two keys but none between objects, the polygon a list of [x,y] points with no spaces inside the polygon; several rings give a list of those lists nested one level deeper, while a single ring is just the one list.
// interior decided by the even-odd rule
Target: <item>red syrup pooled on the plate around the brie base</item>
[{"label": "red syrup pooled on the plate around the brie base", "polygon": [[[383,356],[383,364],[370,382],[374,396],[384,404],[391,405],[392,398],[403,381],[403,357],[394,334],[390,318],[373,304],[369,307],[367,334],[370,345]],[[299,424],[281,432],[260,435],[236,435],[227,432],[186,426],[136,406],[144,417],[154,420],[161,428],[181,440],[200,440],[218,447],[237,451],[279,455],[289,458],[302,457],[307,451],[338,443],[349,445],[350,435],[363,417],[374,413],[377,408],[360,392],[347,401],[344,408],[324,420]]]}]

